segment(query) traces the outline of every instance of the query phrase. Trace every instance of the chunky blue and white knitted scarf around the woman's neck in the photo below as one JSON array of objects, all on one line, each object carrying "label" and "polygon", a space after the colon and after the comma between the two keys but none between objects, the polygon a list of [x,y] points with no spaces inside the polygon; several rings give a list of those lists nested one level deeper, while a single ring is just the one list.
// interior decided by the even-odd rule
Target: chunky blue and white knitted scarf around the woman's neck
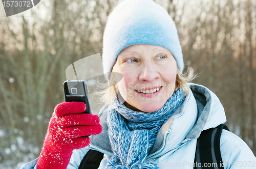
[{"label": "chunky blue and white knitted scarf around the woman's neck", "polygon": [[107,168],[154,168],[152,162],[145,162],[145,158],[150,153],[163,123],[185,100],[183,95],[184,91],[178,89],[155,112],[131,110],[114,97],[107,120],[114,155]]}]

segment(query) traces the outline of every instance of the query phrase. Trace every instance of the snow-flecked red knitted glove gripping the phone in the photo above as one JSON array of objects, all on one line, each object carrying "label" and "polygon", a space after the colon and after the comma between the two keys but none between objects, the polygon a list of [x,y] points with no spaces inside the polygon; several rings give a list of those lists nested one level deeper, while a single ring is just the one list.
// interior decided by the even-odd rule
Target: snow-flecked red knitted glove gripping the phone
[{"label": "snow-flecked red knitted glove gripping the phone", "polygon": [[86,104],[83,102],[63,102],[55,107],[36,164],[38,169],[66,169],[72,151],[90,144],[90,138],[82,136],[101,132],[99,117],[81,114],[84,111]]}]

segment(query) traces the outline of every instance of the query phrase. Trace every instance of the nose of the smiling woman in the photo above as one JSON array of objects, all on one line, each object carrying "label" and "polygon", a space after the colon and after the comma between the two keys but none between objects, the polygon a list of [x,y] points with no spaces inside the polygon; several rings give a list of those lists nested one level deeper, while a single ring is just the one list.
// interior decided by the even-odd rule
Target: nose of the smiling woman
[{"label": "nose of the smiling woman", "polygon": [[160,74],[151,63],[142,67],[139,74],[139,80],[143,82],[154,81],[156,79],[159,79],[159,77],[160,77]]}]

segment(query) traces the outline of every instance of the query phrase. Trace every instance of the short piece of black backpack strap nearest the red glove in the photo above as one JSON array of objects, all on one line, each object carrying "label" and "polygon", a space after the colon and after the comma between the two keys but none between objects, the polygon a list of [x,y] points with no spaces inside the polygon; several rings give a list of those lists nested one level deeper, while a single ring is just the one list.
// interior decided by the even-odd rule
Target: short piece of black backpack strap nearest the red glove
[{"label": "short piece of black backpack strap nearest the red glove", "polygon": [[99,151],[90,149],[83,157],[78,169],[97,169],[103,159],[103,155]]}]

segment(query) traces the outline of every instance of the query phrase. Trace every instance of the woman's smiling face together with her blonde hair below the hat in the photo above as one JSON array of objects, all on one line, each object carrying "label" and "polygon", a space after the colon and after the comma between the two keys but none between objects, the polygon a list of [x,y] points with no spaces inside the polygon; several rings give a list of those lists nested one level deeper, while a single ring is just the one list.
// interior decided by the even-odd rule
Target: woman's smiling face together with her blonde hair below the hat
[{"label": "woman's smiling face together with her blonde hair below the hat", "polygon": [[[117,77],[116,73],[122,76]],[[186,96],[189,91],[188,82],[195,77],[192,67],[188,67],[186,73],[180,73],[175,58],[166,48],[131,45],[119,53],[110,79],[106,83],[98,82],[97,94],[101,96],[102,102],[110,105],[117,95],[131,109],[152,112],[159,110],[179,88],[184,90]],[[158,102],[159,105],[153,108],[151,102]]]}]

